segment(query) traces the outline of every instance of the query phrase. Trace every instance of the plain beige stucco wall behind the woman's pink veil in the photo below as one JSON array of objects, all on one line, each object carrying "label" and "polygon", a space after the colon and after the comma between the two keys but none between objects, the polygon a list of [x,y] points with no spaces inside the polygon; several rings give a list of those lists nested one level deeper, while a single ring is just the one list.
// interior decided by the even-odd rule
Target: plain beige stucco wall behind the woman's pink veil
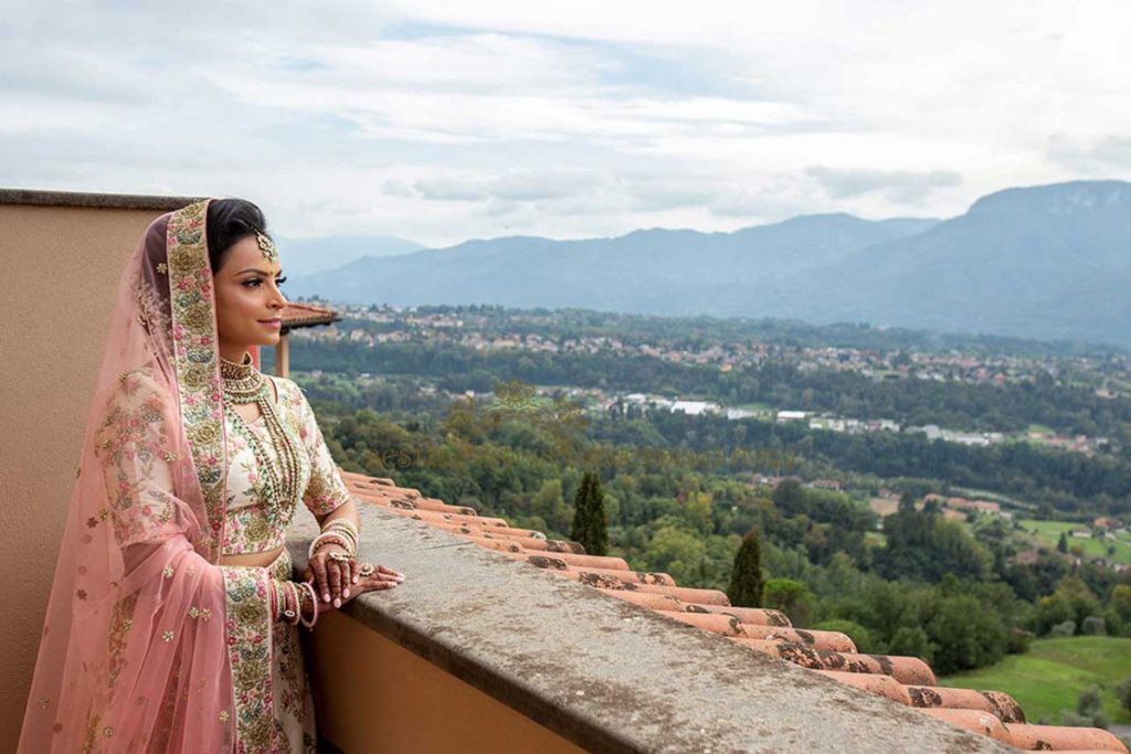
[{"label": "plain beige stucco wall behind the woman's pink veil", "polygon": [[118,280],[162,211],[0,201],[0,752],[24,717]]}]

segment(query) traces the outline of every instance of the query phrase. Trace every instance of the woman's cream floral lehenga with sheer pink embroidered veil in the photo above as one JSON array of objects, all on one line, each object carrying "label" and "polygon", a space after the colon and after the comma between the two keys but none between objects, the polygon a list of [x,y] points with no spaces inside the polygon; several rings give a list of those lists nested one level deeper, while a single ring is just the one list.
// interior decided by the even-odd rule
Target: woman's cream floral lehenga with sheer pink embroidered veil
[{"label": "woman's cream floral lehenga with sheer pink embroidered veil", "polygon": [[19,752],[314,748],[297,629],[270,609],[287,552],[219,558],[283,544],[299,501],[276,487],[317,515],[349,495],[293,382],[268,378],[288,467],[264,418],[225,410],[206,209],[154,220],[122,278]]}]

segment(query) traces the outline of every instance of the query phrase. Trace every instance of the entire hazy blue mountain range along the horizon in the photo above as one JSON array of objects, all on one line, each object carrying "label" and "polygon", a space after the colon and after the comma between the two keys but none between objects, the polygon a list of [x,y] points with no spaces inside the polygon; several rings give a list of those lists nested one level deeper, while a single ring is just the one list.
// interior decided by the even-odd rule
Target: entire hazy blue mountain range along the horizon
[{"label": "entire hazy blue mountain range along the horizon", "polygon": [[1007,189],[950,219],[803,215],[733,233],[508,236],[295,279],[348,303],[866,321],[1131,346],[1131,183]]}]

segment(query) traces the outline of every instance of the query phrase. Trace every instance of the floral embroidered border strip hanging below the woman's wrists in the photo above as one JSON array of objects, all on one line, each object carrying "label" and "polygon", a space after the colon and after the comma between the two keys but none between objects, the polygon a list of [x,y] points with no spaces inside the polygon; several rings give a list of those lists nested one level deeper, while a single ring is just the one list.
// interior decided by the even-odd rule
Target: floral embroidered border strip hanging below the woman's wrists
[{"label": "floral embroidered border strip hanging below the woman's wrists", "polygon": [[239,754],[273,751],[271,617],[264,569],[222,566]]}]

